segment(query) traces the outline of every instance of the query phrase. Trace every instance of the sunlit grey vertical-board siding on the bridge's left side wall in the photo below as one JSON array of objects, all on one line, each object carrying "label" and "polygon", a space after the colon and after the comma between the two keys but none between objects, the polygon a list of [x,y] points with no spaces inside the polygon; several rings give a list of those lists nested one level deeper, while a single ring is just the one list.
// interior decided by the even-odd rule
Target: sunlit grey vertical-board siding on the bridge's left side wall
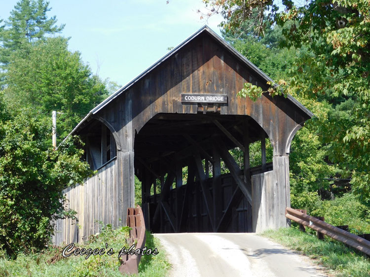
[{"label": "sunlit grey vertical-board siding on the bridge's left side wall", "polygon": [[116,181],[116,171],[114,159],[83,185],[77,184],[64,190],[69,200],[67,208],[77,212],[77,220],[58,219],[53,244],[85,242],[89,236],[101,232],[99,221],[113,227],[122,225],[126,210],[123,210],[123,190]]}]

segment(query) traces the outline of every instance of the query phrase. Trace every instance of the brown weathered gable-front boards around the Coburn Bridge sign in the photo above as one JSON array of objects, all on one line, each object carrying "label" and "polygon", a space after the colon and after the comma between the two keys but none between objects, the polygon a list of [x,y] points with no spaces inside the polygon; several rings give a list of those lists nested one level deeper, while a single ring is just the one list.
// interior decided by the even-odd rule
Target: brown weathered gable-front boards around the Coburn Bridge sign
[{"label": "brown weathered gable-front boards around the Coburn Bridge sign", "polygon": [[[96,114],[110,122],[123,149],[134,148],[134,134],[158,113],[197,113],[197,104],[182,104],[182,93],[227,94],[221,114],[249,115],[267,133],[275,155],[286,155],[287,141],[308,119],[283,96],[263,94],[256,102],[240,98],[245,82],[267,89],[253,69],[236,59],[210,35],[191,40],[156,68],[137,80]],[[292,133],[293,132],[293,133]]]}]

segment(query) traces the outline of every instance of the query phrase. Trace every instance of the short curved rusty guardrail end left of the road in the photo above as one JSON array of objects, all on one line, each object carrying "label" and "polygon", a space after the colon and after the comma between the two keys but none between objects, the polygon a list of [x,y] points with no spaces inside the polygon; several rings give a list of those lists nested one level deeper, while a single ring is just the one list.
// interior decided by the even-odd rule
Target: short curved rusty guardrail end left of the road
[{"label": "short curved rusty guardrail end left of the road", "polygon": [[[127,240],[129,248],[136,242],[135,249],[143,249],[145,246],[145,222],[143,210],[138,205],[137,208],[127,209],[127,226],[131,228],[130,238]],[[131,244],[131,245],[130,245]],[[120,256],[121,265],[119,272],[122,274],[138,274],[141,254],[125,254]]]}]

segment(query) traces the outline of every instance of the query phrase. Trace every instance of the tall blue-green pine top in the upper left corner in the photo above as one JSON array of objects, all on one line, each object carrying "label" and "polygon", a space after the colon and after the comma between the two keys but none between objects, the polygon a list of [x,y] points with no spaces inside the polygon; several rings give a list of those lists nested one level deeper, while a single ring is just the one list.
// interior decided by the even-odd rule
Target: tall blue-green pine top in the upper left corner
[{"label": "tall blue-green pine top in the upper left corner", "polygon": [[0,28],[0,63],[7,65],[13,51],[63,30],[65,25],[55,25],[55,16],[49,18],[46,15],[50,10],[49,2],[44,0],[20,0],[16,3]]}]

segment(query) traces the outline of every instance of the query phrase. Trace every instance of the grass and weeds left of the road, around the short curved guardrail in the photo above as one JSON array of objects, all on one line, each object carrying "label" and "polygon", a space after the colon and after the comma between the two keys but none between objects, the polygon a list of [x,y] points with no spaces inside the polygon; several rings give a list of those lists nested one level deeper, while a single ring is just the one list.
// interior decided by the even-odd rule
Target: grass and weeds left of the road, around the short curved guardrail
[{"label": "grass and weeds left of the road, around the short curved guardrail", "polygon": [[[62,247],[49,247],[40,253],[24,255],[19,254],[16,260],[7,259],[0,252],[0,277],[122,277],[118,271],[120,265],[117,255],[119,250],[125,245],[127,229],[125,227],[112,230],[105,230],[90,238],[84,248],[106,248],[111,247],[114,254],[102,256],[70,256],[63,258]],[[159,254],[145,255],[139,264],[138,277],[163,277],[166,276],[170,264],[166,260],[166,254],[159,241],[147,232],[146,246],[148,248],[158,248]],[[77,246],[79,247],[79,246]]]}]

